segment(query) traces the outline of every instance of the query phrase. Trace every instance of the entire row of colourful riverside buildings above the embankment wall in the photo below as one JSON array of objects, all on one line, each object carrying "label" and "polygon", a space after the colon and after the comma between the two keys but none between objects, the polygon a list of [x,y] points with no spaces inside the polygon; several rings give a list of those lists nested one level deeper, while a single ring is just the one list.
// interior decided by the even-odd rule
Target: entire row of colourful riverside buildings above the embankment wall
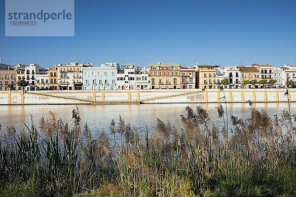
[{"label": "entire row of colourful riverside buildings above the embankment wall", "polygon": [[0,65],[0,90],[21,90],[25,80],[31,90],[148,90],[148,89],[216,89],[287,88],[296,85],[296,66],[253,64],[250,66],[101,63],[39,65]]}]

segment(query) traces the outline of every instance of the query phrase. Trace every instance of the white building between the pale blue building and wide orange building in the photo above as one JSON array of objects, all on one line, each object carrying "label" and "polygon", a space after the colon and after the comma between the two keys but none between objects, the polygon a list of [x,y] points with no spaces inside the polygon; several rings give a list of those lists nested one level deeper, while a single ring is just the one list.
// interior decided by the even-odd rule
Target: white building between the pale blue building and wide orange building
[{"label": "white building between the pale blue building and wide orange building", "polygon": [[149,89],[149,71],[146,67],[136,67],[134,64],[126,64],[123,69],[117,71],[117,89]]}]

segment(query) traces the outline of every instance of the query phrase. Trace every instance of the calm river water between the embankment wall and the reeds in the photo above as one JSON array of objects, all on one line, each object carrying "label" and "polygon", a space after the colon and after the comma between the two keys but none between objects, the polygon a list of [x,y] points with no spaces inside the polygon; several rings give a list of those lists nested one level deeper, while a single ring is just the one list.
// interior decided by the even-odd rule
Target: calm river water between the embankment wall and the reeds
[{"label": "calm river water between the embankment wall and the reeds", "polygon": [[[217,104],[139,104],[139,105],[78,105],[81,125],[88,124],[89,128],[98,133],[102,129],[108,130],[112,119],[115,123],[118,121],[119,114],[126,123],[143,132],[145,125],[152,131],[156,126],[156,119],[164,122],[171,122],[177,128],[181,128],[180,115],[185,115],[185,107],[190,106],[195,109],[197,105],[207,109],[214,122],[218,120]],[[222,104],[225,110],[225,105]],[[290,103],[291,114],[296,114],[296,103]],[[64,122],[72,123],[71,113],[75,105],[26,105],[26,106],[0,106],[0,124],[2,131],[7,126],[14,126],[17,131],[22,130],[24,121],[28,126],[31,125],[31,116],[34,117],[34,123],[38,127],[41,117],[50,118],[49,110],[54,112],[56,118],[62,118]],[[274,114],[280,116],[281,110],[286,108],[287,103],[256,103],[257,110],[265,110],[274,118]],[[251,109],[248,103],[227,104],[228,114],[246,119],[250,116]],[[218,121],[219,122],[219,121]]]}]

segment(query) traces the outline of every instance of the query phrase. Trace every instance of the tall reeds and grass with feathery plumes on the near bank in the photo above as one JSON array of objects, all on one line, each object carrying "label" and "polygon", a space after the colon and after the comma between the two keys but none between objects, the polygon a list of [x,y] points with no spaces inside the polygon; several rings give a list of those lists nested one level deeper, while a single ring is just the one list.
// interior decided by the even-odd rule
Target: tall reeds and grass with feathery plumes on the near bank
[{"label": "tall reeds and grass with feathery plumes on the near bank", "polygon": [[0,196],[296,196],[292,117],[251,108],[228,128],[220,106],[219,128],[187,106],[183,130],[157,119],[138,131],[120,116],[94,137],[77,107],[71,124],[50,112],[38,127],[0,127]]}]

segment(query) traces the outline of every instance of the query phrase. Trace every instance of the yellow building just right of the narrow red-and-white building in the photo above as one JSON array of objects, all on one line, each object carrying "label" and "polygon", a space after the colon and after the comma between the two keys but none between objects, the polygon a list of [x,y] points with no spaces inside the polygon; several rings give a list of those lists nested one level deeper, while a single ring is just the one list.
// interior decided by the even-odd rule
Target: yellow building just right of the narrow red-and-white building
[{"label": "yellow building just right of the narrow red-and-white building", "polygon": [[197,89],[215,89],[216,83],[216,69],[209,65],[196,65],[196,88]]}]

